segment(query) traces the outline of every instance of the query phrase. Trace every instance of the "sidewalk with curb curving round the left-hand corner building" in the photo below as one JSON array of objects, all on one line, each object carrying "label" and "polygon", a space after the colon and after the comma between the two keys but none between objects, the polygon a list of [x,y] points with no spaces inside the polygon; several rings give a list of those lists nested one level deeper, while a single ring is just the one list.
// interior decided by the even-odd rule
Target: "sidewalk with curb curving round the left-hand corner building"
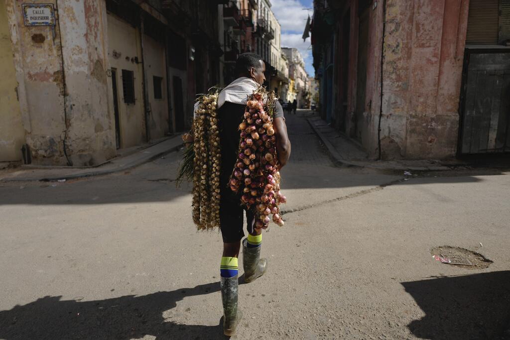
[{"label": "sidewalk with curb curving round the left-hand corner building", "polygon": [[114,172],[124,171],[155,160],[172,151],[176,151],[183,145],[181,136],[173,136],[147,147],[139,147],[123,150],[119,156],[107,163],[85,168],[72,167],[34,167],[21,166],[16,169],[0,171],[0,182],[10,181],[58,181],[74,178],[83,178],[99,175],[107,175]]}]

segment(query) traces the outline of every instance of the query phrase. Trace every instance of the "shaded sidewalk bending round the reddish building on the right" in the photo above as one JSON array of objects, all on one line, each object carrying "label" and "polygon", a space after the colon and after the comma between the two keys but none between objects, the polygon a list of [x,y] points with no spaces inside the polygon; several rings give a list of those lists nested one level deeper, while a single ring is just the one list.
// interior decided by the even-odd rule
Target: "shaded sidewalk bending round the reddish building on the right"
[{"label": "shaded sidewalk bending round the reddish building on the right", "polygon": [[351,139],[340,134],[333,127],[329,126],[317,114],[310,113],[307,120],[313,130],[327,148],[331,158],[337,166],[354,166],[384,170],[414,170],[414,171],[443,171],[451,170],[459,166],[467,166],[458,160],[436,161],[436,160],[396,160],[396,161],[374,161],[369,160],[367,153]]}]

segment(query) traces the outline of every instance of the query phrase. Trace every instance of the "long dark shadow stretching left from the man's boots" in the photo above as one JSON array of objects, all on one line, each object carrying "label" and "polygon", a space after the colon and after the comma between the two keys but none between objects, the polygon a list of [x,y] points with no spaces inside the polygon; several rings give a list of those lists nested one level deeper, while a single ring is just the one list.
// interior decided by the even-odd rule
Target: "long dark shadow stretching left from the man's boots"
[{"label": "long dark shadow stretching left from the man's boots", "polygon": [[[240,284],[244,283],[243,277]],[[144,296],[127,295],[96,301],[61,300],[46,296],[0,311],[0,338],[12,339],[218,339],[216,326],[183,325],[164,319],[163,312],[185,297],[215,293],[219,282]]]}]

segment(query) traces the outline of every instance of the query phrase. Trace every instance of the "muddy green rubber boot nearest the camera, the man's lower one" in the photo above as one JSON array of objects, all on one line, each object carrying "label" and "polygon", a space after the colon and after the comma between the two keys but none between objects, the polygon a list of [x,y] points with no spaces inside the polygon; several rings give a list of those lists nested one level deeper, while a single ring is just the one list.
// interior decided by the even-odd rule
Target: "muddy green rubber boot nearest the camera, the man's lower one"
[{"label": "muddy green rubber boot nearest the camera, the man's lower one", "polygon": [[232,336],[236,332],[237,325],[243,317],[243,313],[237,309],[238,279],[234,277],[222,277],[221,302],[223,302],[223,333]]}]

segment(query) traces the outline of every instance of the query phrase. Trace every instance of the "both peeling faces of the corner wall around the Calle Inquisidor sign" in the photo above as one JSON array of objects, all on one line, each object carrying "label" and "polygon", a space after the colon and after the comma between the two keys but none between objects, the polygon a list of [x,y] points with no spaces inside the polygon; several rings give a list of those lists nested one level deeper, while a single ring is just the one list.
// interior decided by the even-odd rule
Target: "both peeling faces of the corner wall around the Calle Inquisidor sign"
[{"label": "both peeling faces of the corner wall around the Calle Inquisidor sign", "polygon": [[22,3],[6,1],[32,162],[66,165],[64,139],[73,166],[112,158],[115,140],[108,114],[105,3],[31,1],[54,5],[55,27],[25,27]]}]

